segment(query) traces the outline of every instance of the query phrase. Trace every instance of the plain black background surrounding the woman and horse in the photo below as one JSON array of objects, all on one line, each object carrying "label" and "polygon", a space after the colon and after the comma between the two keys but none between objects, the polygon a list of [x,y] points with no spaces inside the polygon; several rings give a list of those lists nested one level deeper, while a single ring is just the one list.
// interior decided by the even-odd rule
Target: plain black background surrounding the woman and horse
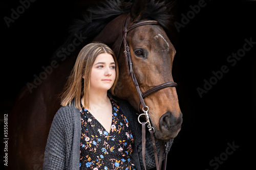
[{"label": "plain black background surrounding the woman and horse", "polygon": [[[11,9],[20,3],[1,1],[1,119],[11,110],[20,88],[49,65],[51,55],[69,35],[72,20],[95,2],[35,1],[8,28],[4,17],[10,17]],[[179,2],[177,22],[182,23],[181,14],[187,15],[189,6],[199,1]],[[175,38],[170,37],[177,50],[173,75],[183,125],[168,154],[167,169],[254,168],[256,50],[251,48],[233,66],[227,58],[243,48],[245,39],[256,42],[256,2],[205,3],[176,30]],[[229,71],[200,98],[197,88],[203,89],[204,80],[213,79],[212,71],[220,71],[223,65]],[[225,158],[227,143],[239,148],[218,167],[211,166],[215,157]]]}]

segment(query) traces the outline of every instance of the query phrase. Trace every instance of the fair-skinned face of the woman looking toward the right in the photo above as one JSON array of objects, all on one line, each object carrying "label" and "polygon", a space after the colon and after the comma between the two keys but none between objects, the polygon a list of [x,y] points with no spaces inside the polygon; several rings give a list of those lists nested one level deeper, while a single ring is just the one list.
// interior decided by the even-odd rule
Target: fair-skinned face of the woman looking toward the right
[{"label": "fair-skinned face of the woman looking toward the right", "polygon": [[100,54],[93,63],[90,90],[107,91],[116,78],[115,61],[108,53]]}]

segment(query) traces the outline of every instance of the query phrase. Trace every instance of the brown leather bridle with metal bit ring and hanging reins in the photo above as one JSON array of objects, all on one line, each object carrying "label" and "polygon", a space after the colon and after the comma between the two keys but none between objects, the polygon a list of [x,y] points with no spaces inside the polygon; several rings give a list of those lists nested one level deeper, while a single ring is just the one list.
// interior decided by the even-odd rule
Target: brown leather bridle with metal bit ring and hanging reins
[{"label": "brown leather bridle with metal bit ring and hanging reins", "polygon": [[[155,86],[151,89],[146,90],[145,92],[141,92],[138,81],[135,77],[134,71],[133,71],[133,62],[132,62],[132,58],[131,58],[131,52],[130,52],[130,47],[126,41],[126,36],[127,33],[129,33],[130,31],[134,30],[137,27],[140,26],[145,26],[145,25],[159,25],[158,21],[156,20],[146,20],[146,21],[141,21],[138,23],[134,23],[132,26],[128,27],[128,22],[129,22],[129,17],[130,14],[128,14],[126,16],[125,22],[124,22],[124,27],[123,27],[123,46],[124,46],[124,57],[125,57],[125,63],[126,63],[126,67],[127,67],[127,72],[129,76],[132,76],[133,79],[133,83],[136,87],[136,90],[138,92],[139,95],[139,102],[138,102],[138,111],[140,112],[140,104],[142,104],[142,110],[144,113],[140,114],[138,117],[138,122],[140,124],[142,124],[142,157],[143,157],[143,164],[144,164],[144,168],[146,170],[146,164],[145,164],[145,124],[148,124],[148,130],[150,131],[151,134],[151,138],[152,138],[152,142],[153,142],[153,150],[154,150],[154,154],[155,154],[155,160],[156,160],[156,167],[157,170],[161,169],[161,163],[162,163],[162,156],[163,156],[163,150],[165,151],[165,158],[164,158],[164,169],[166,169],[166,162],[167,162],[167,149],[166,149],[166,142],[162,142],[161,144],[161,150],[160,150],[160,157],[159,157],[159,161],[158,161],[158,157],[157,157],[157,151],[156,151],[156,142],[155,142],[155,137],[153,132],[155,131],[155,129],[151,126],[150,123],[150,117],[148,116],[148,107],[145,105],[144,102],[144,98],[156,91],[159,91],[161,89],[164,89],[166,87],[177,87],[177,83],[175,82],[165,82],[162,83],[158,86]],[[119,52],[118,52],[119,53]],[[140,116],[145,116],[146,122],[140,122]]]}]

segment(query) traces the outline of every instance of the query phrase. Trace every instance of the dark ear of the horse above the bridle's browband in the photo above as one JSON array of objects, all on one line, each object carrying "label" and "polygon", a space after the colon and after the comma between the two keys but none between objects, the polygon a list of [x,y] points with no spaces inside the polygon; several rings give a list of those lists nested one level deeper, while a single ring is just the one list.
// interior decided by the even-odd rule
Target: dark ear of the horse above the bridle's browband
[{"label": "dark ear of the horse above the bridle's browband", "polygon": [[139,21],[146,10],[147,0],[134,0],[131,8],[131,17],[134,21]]}]

